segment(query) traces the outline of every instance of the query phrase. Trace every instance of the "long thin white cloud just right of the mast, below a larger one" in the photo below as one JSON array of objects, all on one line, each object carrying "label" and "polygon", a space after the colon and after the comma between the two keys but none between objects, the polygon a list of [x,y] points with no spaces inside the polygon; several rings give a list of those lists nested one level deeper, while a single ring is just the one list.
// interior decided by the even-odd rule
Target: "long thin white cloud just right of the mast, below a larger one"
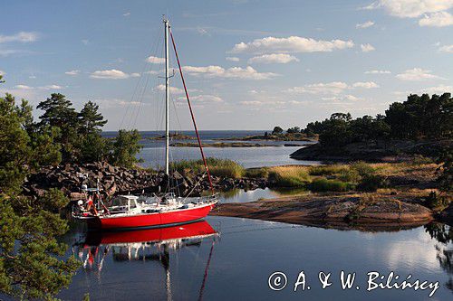
[{"label": "long thin white cloud just right of the mast, below a larger one", "polygon": [[193,67],[184,66],[183,71],[194,76],[206,76],[208,78],[224,78],[224,79],[242,79],[242,80],[267,80],[278,74],[272,72],[258,72],[250,66],[246,68],[232,67],[222,68],[220,66]]}]

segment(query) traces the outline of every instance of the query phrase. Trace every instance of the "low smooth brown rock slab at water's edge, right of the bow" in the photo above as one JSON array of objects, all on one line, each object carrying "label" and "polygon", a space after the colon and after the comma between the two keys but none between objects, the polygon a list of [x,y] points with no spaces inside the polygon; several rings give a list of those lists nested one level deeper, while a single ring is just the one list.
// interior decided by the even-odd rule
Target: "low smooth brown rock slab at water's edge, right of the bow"
[{"label": "low smooth brown rock slab at water's edge, right of the bow", "polygon": [[433,221],[435,213],[419,203],[401,202],[410,195],[311,194],[246,203],[223,203],[211,215],[279,221],[336,229],[397,230]]}]

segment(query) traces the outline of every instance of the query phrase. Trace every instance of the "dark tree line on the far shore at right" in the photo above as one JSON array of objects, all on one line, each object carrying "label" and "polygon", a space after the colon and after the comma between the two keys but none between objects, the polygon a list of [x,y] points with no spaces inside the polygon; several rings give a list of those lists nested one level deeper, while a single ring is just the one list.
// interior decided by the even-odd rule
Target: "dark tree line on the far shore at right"
[{"label": "dark tree line on the far shore at right", "polygon": [[[273,133],[281,134],[282,127]],[[404,102],[394,102],[385,114],[352,118],[350,113],[334,113],[323,121],[310,122],[306,127],[290,127],[287,133],[319,135],[325,147],[345,146],[352,142],[388,139],[450,139],[453,136],[453,99],[442,95],[411,94]]]}]

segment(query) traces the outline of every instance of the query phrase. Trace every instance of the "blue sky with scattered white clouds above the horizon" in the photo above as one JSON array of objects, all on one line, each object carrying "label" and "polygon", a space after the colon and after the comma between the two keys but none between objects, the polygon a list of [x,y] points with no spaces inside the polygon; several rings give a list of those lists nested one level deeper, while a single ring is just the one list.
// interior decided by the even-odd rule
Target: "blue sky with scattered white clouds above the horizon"
[{"label": "blue sky with scattered white clouds above the horizon", "polygon": [[[161,129],[162,14],[200,129],[305,127],[453,90],[453,0],[17,0],[2,5],[0,93]],[[170,67],[171,127],[191,129],[174,52]]]}]

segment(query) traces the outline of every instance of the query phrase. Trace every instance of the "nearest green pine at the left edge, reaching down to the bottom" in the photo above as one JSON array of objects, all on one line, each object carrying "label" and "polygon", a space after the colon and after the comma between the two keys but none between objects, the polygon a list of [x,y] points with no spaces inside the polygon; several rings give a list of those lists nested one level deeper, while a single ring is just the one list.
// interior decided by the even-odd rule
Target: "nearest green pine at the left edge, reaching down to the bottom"
[{"label": "nearest green pine at the left edge, reaching down to the bottom", "polygon": [[57,213],[68,202],[63,193],[20,194],[30,171],[61,160],[57,131],[34,127],[31,113],[25,100],[0,98],[0,291],[24,299],[51,298],[79,266],[73,257],[61,258],[67,247],[55,240],[68,230]]}]

